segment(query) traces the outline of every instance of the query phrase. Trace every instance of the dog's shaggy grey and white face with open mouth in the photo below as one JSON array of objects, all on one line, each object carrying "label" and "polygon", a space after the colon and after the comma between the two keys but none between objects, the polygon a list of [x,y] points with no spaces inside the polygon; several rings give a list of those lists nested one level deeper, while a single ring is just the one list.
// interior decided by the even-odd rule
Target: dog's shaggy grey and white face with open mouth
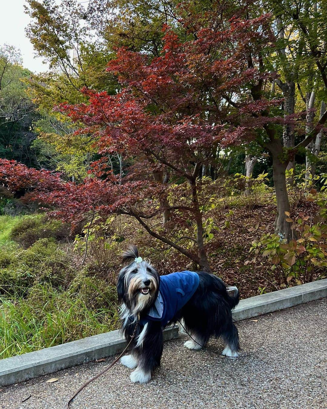
[{"label": "dog's shaggy grey and white face with open mouth", "polygon": [[[137,250],[132,254],[137,258]],[[123,255],[126,259],[127,257]],[[129,257],[132,258],[132,257]],[[148,261],[132,261],[119,272],[117,293],[119,303],[137,314],[155,301],[159,290],[159,274]]]}]

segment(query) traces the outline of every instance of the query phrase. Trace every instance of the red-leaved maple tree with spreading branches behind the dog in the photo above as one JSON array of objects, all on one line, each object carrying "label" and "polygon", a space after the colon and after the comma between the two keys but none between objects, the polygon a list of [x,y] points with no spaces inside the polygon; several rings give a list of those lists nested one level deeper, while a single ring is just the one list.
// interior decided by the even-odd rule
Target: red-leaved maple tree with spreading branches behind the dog
[{"label": "red-leaved maple tree with spreading branches behind the dog", "polygon": [[[270,76],[260,69],[260,58],[273,46],[269,18],[226,22],[213,13],[204,23],[203,16],[190,13],[190,20],[181,21],[185,41],[164,27],[161,56],[150,60],[146,54],[117,50],[108,64],[119,80],[116,95],[83,89],[89,103],[57,108],[82,124],[77,133],[92,136],[101,158],[81,184],[43,172],[41,181],[41,173],[30,170],[38,182],[35,198],[65,221],[95,213],[133,216],[151,236],[210,271],[202,217],[208,181],[201,178],[202,166],[214,163],[224,147],[254,139],[258,129],[284,121],[269,116],[269,108],[280,101],[255,100],[249,92]],[[123,178],[110,171],[112,152],[130,158]],[[9,164],[1,165],[0,180],[13,188]],[[15,172],[17,186],[29,187]],[[161,213],[164,223],[158,228]],[[181,230],[174,236],[176,225],[194,225],[194,236],[184,237]]]}]

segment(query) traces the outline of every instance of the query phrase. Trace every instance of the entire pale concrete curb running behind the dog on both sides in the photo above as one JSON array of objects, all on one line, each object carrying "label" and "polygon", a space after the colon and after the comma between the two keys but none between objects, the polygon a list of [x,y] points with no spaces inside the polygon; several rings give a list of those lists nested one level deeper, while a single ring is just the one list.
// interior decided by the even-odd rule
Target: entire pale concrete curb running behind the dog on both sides
[{"label": "entire pale concrete curb running behind the dog on both sides", "polygon": [[[241,300],[233,311],[233,318],[241,321],[324,297],[327,297],[327,279]],[[177,326],[164,330],[165,341],[177,337]],[[125,346],[125,339],[116,330],[6,358],[0,360],[0,385],[7,386],[115,355]]]}]

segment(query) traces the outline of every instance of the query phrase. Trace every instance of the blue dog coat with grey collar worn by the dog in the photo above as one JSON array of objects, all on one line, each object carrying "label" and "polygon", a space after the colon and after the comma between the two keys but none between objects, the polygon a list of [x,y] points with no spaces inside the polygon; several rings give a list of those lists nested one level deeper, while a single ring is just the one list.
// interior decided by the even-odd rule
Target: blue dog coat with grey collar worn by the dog
[{"label": "blue dog coat with grey collar worn by the dog", "polygon": [[142,321],[161,321],[166,326],[195,293],[199,281],[199,274],[193,271],[160,276],[158,297]]}]

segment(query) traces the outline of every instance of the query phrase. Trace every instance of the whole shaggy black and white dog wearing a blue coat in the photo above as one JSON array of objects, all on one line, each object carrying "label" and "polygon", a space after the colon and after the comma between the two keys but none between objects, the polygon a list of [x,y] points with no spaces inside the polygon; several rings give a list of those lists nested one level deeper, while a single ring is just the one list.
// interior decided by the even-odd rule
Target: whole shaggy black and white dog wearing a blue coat
[{"label": "whole shaggy black and white dog wearing a blue coat", "polygon": [[[179,272],[159,276],[155,268],[131,246],[123,253],[129,264],[119,272],[117,281],[120,315],[126,340],[132,340],[130,355],[121,358],[132,382],[146,383],[160,365],[163,350],[162,330],[184,319],[193,339],[185,342],[189,349],[201,349],[209,338],[222,337],[222,355],[237,357],[240,349],[232,309],[239,301],[236,287],[206,272]],[[231,297],[228,291],[233,291]]]}]

